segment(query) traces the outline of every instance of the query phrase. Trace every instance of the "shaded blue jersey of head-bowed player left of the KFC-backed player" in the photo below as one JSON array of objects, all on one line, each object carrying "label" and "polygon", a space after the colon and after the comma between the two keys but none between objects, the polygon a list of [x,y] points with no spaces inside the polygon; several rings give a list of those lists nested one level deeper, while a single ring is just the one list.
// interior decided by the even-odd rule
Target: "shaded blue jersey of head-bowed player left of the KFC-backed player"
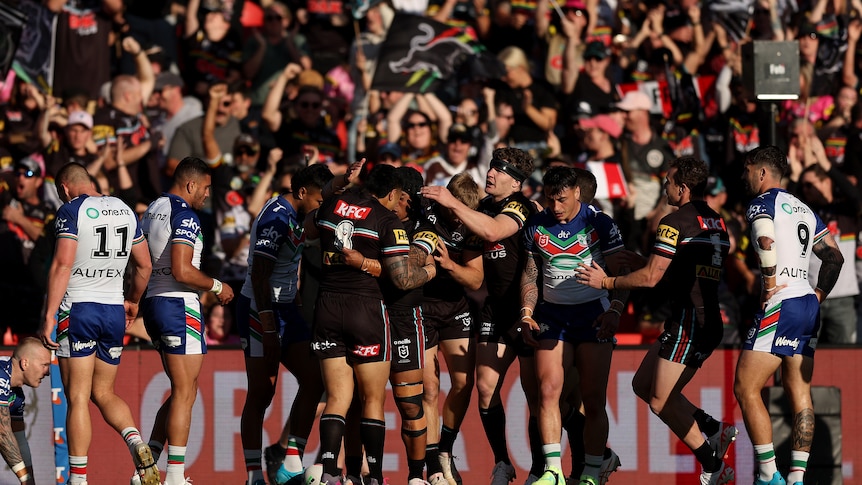
[{"label": "shaded blue jersey of head-bowed player left of the KFC-backed player", "polygon": [[269,284],[272,301],[290,303],[296,298],[299,260],[305,247],[305,233],[293,206],[284,197],[273,197],[266,203],[251,226],[248,273],[241,293],[254,300],[252,260],[267,258],[275,262]]}]

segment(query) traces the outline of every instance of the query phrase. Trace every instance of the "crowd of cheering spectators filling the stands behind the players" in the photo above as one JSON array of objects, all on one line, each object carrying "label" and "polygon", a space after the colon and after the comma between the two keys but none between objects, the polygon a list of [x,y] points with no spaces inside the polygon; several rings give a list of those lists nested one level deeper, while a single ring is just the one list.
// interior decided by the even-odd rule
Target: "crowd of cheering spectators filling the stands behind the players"
[{"label": "crowd of cheering spectators filling the stands behind the players", "polygon": [[[368,167],[414,167],[427,185],[468,172],[482,186],[491,151],[503,146],[534,157],[523,190],[539,203],[547,168],[593,171],[594,205],[641,254],[673,210],[661,190],[669,163],[706,161],[706,199],[732,241],[721,286],[725,342],[739,343],[760,284],[742,214],[742,155],[761,142],[785,150],[787,189],[818,211],[844,254],[820,341],[856,343],[859,0],[756,0],[751,10],[724,0],[42,3],[57,16],[51,88],[16,69],[0,91],[7,343],[38,330],[60,203],[53,177],[67,163],[84,165],[102,192],[142,213],[182,158],[206,160],[215,175],[200,214],[202,269],[238,292],[252,221],[306,164],[338,175],[364,157]],[[404,13],[464,29],[499,61],[500,76],[458,70],[434,89],[376,89],[377,59]],[[743,46],[759,40],[799,45],[799,98],[775,111],[745,88]],[[620,332],[632,341],[660,333],[665,310],[651,300],[637,292],[624,312]],[[215,318],[210,305],[206,314]],[[207,339],[235,342],[231,320]],[[142,327],[130,333],[146,338]]]}]

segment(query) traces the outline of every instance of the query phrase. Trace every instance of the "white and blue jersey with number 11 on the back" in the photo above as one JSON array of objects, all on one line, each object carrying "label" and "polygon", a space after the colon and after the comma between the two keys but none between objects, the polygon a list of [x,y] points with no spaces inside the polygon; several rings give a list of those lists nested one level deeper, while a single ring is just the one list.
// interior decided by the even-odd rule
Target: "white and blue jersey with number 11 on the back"
[{"label": "white and blue jersey with number 11 on the back", "polygon": [[144,240],[134,211],[116,197],[82,195],[57,211],[55,234],[78,242],[61,308],[80,302],[122,305],[132,245]]}]

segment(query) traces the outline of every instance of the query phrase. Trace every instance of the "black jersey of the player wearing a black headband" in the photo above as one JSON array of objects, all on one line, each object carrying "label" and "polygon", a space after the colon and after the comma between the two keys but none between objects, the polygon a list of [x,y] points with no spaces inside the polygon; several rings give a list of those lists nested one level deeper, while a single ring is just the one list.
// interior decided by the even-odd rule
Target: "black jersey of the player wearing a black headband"
[{"label": "black jersey of the player wearing a black headband", "polygon": [[518,223],[518,231],[502,241],[485,241],[482,251],[485,264],[485,283],[492,301],[514,299],[520,301],[521,273],[525,259],[522,231],[524,222],[536,212],[536,206],[522,193],[495,202],[485,197],[479,203],[479,212],[496,217],[505,214]]}]

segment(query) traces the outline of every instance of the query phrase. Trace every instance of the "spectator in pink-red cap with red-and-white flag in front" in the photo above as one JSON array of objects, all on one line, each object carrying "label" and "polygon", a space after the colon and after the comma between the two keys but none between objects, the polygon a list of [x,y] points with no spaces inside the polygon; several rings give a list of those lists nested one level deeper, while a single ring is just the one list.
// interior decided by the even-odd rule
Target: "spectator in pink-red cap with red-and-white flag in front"
[{"label": "spectator in pink-red cap with red-and-white flag in front", "polygon": [[614,217],[626,194],[626,180],[624,176],[620,176],[622,160],[616,145],[623,128],[608,115],[582,119],[579,127],[583,133],[582,143],[586,152],[578,162],[596,177],[595,205]]}]

